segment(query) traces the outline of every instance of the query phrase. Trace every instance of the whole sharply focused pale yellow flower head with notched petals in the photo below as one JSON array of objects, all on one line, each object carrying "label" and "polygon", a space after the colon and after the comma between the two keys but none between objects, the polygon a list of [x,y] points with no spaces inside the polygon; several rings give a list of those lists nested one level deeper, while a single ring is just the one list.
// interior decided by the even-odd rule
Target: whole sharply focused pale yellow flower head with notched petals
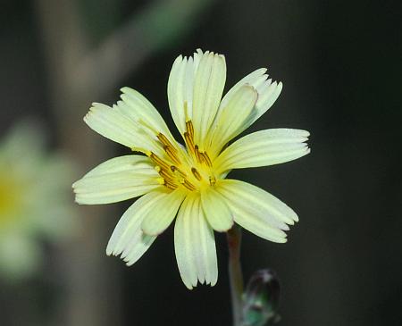
[{"label": "whole sharply focused pale yellow flower head with notched petals", "polygon": [[232,169],[272,165],[309,153],[305,130],[261,130],[231,139],[264,114],[282,84],[266,69],[241,79],[222,98],[226,64],[222,54],[197,50],[175,60],[168,82],[169,107],[184,145],[161,115],[131,88],[109,107],[93,104],[88,126],[143,155],[113,158],[74,183],[80,204],[106,204],[140,197],[121,217],[108,255],[135,263],[174,220],[174,244],[181,279],[188,288],[214,285],[218,278],[214,230],[236,222],[257,236],[285,242],[297,214],[261,188],[226,179]]}]

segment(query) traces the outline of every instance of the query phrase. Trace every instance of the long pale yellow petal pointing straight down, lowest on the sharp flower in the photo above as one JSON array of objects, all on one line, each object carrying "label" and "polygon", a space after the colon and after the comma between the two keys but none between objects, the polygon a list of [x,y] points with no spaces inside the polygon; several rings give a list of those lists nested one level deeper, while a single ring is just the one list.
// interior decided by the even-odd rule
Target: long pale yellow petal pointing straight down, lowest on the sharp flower
[{"label": "long pale yellow petal pointing straight down, lowest on the sharp flower", "polygon": [[174,226],[174,250],[181,280],[187,288],[201,284],[214,286],[218,264],[214,231],[205,220],[199,196],[188,196]]}]

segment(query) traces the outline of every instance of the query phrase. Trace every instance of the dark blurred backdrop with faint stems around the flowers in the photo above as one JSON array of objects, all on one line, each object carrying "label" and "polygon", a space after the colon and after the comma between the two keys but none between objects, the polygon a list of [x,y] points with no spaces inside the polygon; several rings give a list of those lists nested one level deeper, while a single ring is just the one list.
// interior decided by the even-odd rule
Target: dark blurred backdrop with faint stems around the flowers
[{"label": "dark blurred backdrop with faint stems around the flowers", "polygon": [[[130,86],[173,129],[166,85],[177,55],[197,47],[225,54],[226,89],[268,67],[284,88],[251,130],[309,130],[312,153],[232,172],[300,218],[285,245],[244,233],[245,278],[263,267],[277,272],[283,326],[402,324],[400,1],[5,0],[1,7],[0,136],[36,117],[52,148],[76,160],[77,178],[128,154],[82,121],[91,102],[113,104]],[[128,205],[79,207],[80,235],[47,248],[35,278],[2,284],[0,324],[230,325],[224,235],[217,285],[188,291],[172,227],[130,268],[105,255]]]}]

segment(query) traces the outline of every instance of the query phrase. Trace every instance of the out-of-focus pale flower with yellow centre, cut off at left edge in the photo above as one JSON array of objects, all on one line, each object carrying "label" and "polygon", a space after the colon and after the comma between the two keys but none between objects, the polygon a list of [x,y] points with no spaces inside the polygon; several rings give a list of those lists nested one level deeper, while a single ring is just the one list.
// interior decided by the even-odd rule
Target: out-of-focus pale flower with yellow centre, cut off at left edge
[{"label": "out-of-focus pale flower with yellow centre, cut off at left edge", "polygon": [[0,142],[0,277],[21,280],[43,262],[42,240],[74,230],[69,183],[71,163],[49,155],[44,137],[23,122]]}]

